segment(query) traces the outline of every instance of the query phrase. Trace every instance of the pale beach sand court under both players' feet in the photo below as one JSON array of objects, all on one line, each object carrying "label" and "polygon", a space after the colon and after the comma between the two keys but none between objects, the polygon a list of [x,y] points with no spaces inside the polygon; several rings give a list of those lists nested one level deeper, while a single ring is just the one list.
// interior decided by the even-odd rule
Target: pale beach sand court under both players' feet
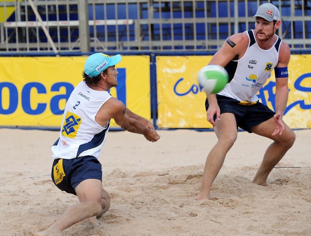
[{"label": "pale beach sand court under both players' feet", "polygon": [[[50,178],[58,132],[0,131],[0,235],[32,235],[77,202]],[[157,143],[109,132],[99,160],[110,209],[98,223],[86,219],[58,235],[311,235],[311,130],[294,132],[268,187],[251,180],[270,140],[239,132],[203,201],[194,197],[213,132],[160,130]]]}]

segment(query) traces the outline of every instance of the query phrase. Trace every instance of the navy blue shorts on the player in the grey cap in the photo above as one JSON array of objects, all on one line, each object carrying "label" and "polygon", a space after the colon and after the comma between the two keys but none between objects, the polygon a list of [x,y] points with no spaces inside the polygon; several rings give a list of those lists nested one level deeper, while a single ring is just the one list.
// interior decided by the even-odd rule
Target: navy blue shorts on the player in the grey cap
[{"label": "navy blue shorts on the player in the grey cap", "polygon": [[[237,123],[237,128],[251,132],[251,128],[269,120],[273,117],[275,112],[268,106],[257,101],[255,104],[239,104],[240,101],[216,94],[217,102],[220,108],[220,113],[233,113]],[[205,101],[205,108],[209,107],[208,100]],[[216,114],[214,115],[214,121],[216,120]]]}]

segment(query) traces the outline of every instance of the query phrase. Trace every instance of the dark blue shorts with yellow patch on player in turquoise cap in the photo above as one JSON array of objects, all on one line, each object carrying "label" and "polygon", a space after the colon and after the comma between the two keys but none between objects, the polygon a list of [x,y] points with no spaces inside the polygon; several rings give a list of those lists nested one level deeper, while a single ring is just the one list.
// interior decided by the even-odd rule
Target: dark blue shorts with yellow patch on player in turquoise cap
[{"label": "dark blue shorts with yellow patch on player in turquoise cap", "polygon": [[62,191],[77,195],[75,188],[86,179],[102,181],[101,164],[96,157],[85,156],[74,159],[55,159],[52,180]]}]

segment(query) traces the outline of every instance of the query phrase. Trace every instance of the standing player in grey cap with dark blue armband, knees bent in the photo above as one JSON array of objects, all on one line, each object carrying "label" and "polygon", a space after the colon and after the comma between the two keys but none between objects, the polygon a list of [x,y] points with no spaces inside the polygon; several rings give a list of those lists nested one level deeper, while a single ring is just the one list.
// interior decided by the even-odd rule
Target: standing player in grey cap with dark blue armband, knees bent
[{"label": "standing player in grey cap with dark blue armband, knees bent", "polygon": [[[282,120],[288,98],[290,50],[275,35],[281,24],[279,11],[272,4],[263,4],[253,18],[255,30],[232,35],[209,63],[225,67],[230,82],[218,94],[207,94],[207,120],[214,126],[218,142],[207,156],[197,200],[209,198],[212,183],[237,138],[237,127],[273,141],[253,179],[253,183],[263,186],[268,185],[269,173],[295,140],[295,134]],[[256,96],[273,69],[275,112]]]}]

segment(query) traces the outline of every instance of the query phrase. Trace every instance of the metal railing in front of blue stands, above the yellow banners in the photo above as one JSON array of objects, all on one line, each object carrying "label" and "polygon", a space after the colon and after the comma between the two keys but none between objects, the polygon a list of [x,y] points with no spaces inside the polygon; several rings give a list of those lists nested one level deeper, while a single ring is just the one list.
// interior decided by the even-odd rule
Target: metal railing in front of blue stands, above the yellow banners
[{"label": "metal railing in front of blue stands, above the yellow banners", "polygon": [[277,34],[311,48],[311,1],[0,0],[0,54],[8,52],[215,51],[251,29],[257,7],[280,10]]}]

